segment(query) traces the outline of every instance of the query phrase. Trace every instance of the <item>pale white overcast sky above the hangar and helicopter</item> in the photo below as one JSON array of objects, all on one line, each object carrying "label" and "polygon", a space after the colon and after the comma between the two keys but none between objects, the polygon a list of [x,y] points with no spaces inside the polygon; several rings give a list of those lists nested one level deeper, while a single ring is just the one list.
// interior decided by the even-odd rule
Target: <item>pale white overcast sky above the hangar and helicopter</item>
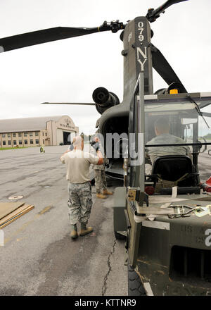
[{"label": "pale white overcast sky above the hangar and helicopter", "polygon": [[[51,27],[97,27],[146,16],[165,0],[0,0],[0,37]],[[167,8],[155,23],[158,46],[188,92],[211,92],[211,1],[188,0]],[[0,119],[68,115],[80,132],[95,131],[92,106],[49,106],[44,101],[92,102],[96,87],[122,101],[120,31],[39,44],[0,54]],[[153,71],[154,91],[166,83]],[[211,112],[211,111],[210,111]]]}]

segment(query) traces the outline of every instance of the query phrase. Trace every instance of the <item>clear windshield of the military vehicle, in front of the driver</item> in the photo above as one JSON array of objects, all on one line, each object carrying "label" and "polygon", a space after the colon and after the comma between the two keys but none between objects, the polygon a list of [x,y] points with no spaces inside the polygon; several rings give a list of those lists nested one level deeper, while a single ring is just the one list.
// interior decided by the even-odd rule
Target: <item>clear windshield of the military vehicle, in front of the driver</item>
[{"label": "clear windshield of the military vehicle, in front of the driver", "polygon": [[203,119],[196,104],[188,101],[156,104],[155,101],[146,101],[144,107],[146,145],[174,147],[179,144],[178,148],[188,147],[192,151],[194,145],[211,142],[211,118]]}]

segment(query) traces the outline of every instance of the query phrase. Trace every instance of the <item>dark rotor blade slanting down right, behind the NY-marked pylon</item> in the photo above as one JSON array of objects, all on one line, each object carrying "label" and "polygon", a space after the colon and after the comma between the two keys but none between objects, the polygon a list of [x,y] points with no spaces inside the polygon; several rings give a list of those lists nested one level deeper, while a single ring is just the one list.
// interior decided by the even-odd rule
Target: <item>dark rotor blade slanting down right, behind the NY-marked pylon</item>
[{"label": "dark rotor blade slanting down right, behind the NY-marked pylon", "polygon": [[153,68],[158,72],[158,74],[167,82],[167,85],[177,82],[181,84],[181,92],[187,92],[184,85],[182,85],[179,77],[174,72],[170,64],[167,62],[162,53],[152,44],[152,58],[153,58]]}]

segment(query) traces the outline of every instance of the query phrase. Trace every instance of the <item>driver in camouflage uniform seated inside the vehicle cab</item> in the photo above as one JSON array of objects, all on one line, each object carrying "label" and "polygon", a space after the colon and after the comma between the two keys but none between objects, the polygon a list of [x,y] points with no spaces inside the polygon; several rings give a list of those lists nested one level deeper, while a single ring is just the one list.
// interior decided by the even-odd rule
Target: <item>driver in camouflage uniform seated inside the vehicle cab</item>
[{"label": "driver in camouflage uniform seated inside the vehicle cab", "polygon": [[[146,151],[146,156],[150,157],[152,165],[158,156],[187,155],[191,158],[191,151],[189,147],[185,145],[186,142],[180,137],[170,135],[170,124],[168,123],[166,118],[158,118],[158,120],[155,121],[154,126],[156,137],[154,137],[147,144],[184,144],[184,146],[148,147]],[[152,166],[149,163],[146,163],[145,170],[146,174],[150,175],[152,171]]]}]

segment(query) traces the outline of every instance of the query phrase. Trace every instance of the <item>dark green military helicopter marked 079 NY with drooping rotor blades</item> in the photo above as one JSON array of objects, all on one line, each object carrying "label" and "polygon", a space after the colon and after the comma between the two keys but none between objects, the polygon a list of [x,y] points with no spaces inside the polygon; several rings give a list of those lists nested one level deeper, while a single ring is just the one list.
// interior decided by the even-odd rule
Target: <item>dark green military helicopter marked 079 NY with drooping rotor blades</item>
[{"label": "dark green military helicopter marked 079 NY with drooping rotor blades", "polygon": [[[46,42],[90,35],[96,32],[110,31],[121,32],[120,39],[124,49],[124,94],[123,100],[105,87],[98,87],[93,92],[94,103],[82,103],[79,105],[96,106],[96,110],[101,114],[96,122],[97,132],[100,132],[106,144],[106,134],[117,132],[121,135],[128,131],[128,116],[130,98],[140,72],[144,72],[144,94],[153,94],[153,68],[158,72],[162,79],[169,85],[167,89],[159,89],[155,94],[169,93],[171,89],[178,89],[178,92],[187,92],[179,77],[174,72],[166,58],[160,50],[151,43],[153,31],[150,24],[155,22],[167,8],[173,4],[188,0],[168,0],[156,9],[148,9],[144,17],[129,20],[126,24],[115,20],[110,23],[104,22],[99,27],[54,27],[46,30],[28,32],[21,35],[14,35],[0,39],[0,50],[11,51],[26,46],[42,44]],[[44,103],[44,104],[74,104],[74,103]],[[110,168],[106,169],[106,174],[115,178],[122,179],[122,140],[115,142],[120,148],[120,159],[110,158]],[[105,145],[104,145],[105,147]]]}]

